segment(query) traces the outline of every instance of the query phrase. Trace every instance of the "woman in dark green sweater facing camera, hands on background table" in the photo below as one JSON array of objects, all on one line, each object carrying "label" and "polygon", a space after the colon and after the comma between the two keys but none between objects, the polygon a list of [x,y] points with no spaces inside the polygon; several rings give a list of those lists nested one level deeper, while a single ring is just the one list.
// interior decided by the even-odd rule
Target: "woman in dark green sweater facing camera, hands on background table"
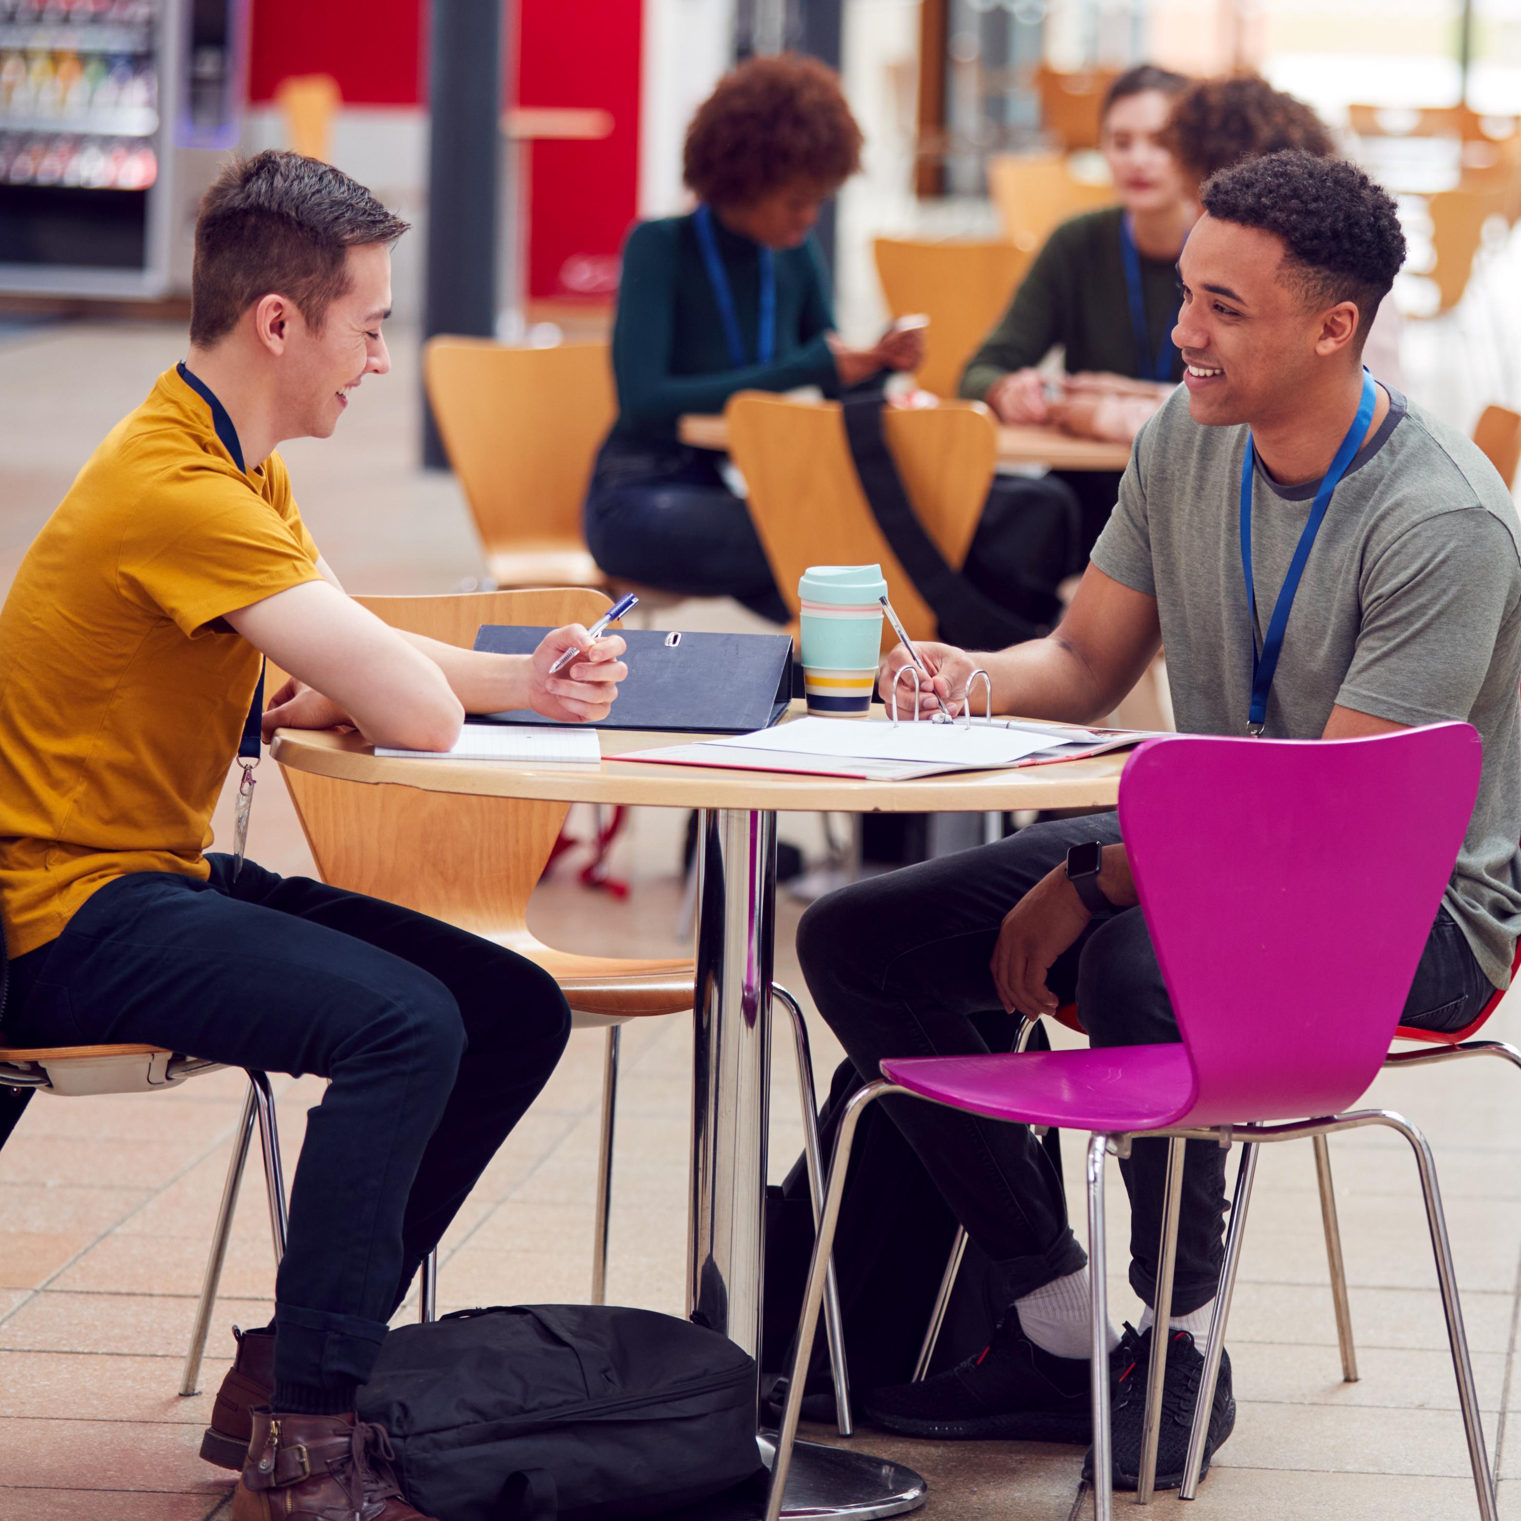
[{"label": "woman in dark green sweater facing camera, hands on background table", "polygon": [[[1135,403],[1144,420],[1177,385],[1176,265],[1199,207],[1165,131],[1173,97],[1186,85],[1182,75],[1141,64],[1109,87],[1103,151],[1119,204],[1074,216],[1051,234],[969,360],[961,395],[986,402],[1005,423],[1056,423],[1129,440],[1126,417]],[[1066,376],[1053,385],[1036,367],[1057,347]],[[1119,475],[1053,475],[1081,503],[1086,549],[1115,505]]]}]

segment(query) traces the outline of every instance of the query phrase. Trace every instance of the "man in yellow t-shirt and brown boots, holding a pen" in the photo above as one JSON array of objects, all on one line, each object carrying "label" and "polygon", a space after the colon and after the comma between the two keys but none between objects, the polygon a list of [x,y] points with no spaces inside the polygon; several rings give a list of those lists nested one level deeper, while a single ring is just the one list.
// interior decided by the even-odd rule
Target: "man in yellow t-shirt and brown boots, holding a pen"
[{"label": "man in yellow t-shirt and brown boots, holding a pen", "polygon": [[[348,722],[420,750],[465,712],[602,718],[627,674],[622,640],[580,627],[532,656],[400,634],[306,531],[274,449],[327,438],[389,370],[403,231],[327,164],[230,166],[196,225],[186,362],[85,464],[0,611],[0,1043],[144,1042],[330,1080],[274,1326],[242,1335],[202,1443],[243,1469],[237,1521],[418,1521],[354,1389],[570,1028],[511,951],[205,853],[230,764],[257,753],[263,656],[292,672],[266,733]],[[566,649],[581,659],[549,675]]]}]

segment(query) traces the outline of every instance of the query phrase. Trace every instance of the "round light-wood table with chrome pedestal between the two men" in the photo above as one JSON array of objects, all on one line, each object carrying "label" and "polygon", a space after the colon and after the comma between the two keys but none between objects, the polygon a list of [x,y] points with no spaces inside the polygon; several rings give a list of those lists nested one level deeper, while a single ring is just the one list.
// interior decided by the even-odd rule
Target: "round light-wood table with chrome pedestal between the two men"
[{"label": "round light-wood table with chrome pedestal between the two men", "polygon": [[[357,735],[298,729],[281,729],[271,754],[298,771],[365,785],[701,811],[687,1308],[759,1357],[777,811],[1112,808],[1126,757],[852,782],[619,760],[622,751],[692,736],[602,730],[599,738],[596,767],[377,759]],[[914,1510],[923,1495],[923,1480],[899,1463],[799,1443],[782,1513],[867,1521]]]}]

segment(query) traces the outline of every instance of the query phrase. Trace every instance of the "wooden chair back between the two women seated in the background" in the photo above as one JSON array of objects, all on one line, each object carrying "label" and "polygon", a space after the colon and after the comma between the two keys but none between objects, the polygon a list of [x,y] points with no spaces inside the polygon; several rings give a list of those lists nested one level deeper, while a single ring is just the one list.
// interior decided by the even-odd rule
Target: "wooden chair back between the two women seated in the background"
[{"label": "wooden chair back between the two women seated in the background", "polygon": [[879,237],[876,274],[893,316],[923,312],[925,362],[917,380],[954,397],[966,362],[1008,307],[1030,254],[1015,243]]}]

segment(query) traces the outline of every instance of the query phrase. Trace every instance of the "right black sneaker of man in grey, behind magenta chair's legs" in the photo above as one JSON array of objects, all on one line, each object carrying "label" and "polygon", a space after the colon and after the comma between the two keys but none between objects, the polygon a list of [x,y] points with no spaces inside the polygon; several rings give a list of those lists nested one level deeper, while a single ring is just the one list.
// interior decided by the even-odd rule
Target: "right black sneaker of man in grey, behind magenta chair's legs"
[{"label": "right black sneaker of man in grey, behind magenta chair's legs", "polygon": [[[1145,1386],[1151,1366],[1151,1331],[1138,1332],[1126,1326],[1119,1346],[1109,1354],[1109,1442],[1113,1456],[1113,1488],[1136,1489],[1141,1484],[1141,1428],[1145,1424]],[[1167,1345],[1167,1367],[1162,1375],[1162,1415],[1156,1443],[1156,1488],[1180,1489],[1188,1462],[1188,1433],[1199,1402],[1199,1386],[1205,1377],[1205,1354],[1188,1331],[1173,1331]],[[1209,1472],[1209,1460],[1235,1430],[1235,1398],[1230,1393],[1230,1354],[1220,1354],[1220,1377],[1215,1380],[1215,1402],[1209,1411],[1205,1437],[1205,1463],[1200,1478]],[[1092,1483],[1094,1450],[1088,1450],[1083,1478]]]}]

